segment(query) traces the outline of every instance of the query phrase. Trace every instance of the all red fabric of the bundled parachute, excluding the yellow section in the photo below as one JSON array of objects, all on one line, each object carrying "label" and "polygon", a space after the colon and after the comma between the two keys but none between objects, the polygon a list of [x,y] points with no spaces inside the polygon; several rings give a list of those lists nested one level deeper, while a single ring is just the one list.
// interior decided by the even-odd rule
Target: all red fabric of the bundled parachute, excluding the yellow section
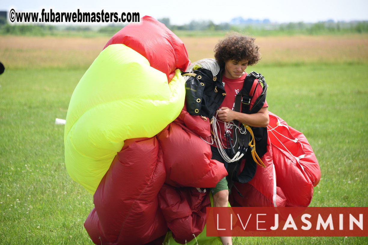
[{"label": "all red fabric of the bundled parachute, excluding the yellow section", "polygon": [[[145,16],[141,23],[124,27],[105,47],[114,43],[123,43],[145,56],[169,81],[176,68],[185,70],[190,62],[181,40],[152,17]],[[277,119],[286,125],[270,113],[272,127]],[[270,136],[268,152],[262,157],[267,167],[258,166],[249,183],[236,184],[244,198],[233,189],[233,205],[273,206],[276,176],[277,206],[309,205],[313,185],[321,177],[318,162],[302,133],[285,126],[278,130],[297,137],[303,151],[298,146],[287,147],[298,154],[305,152],[307,157],[297,163],[277,137]],[[198,235],[205,226],[205,208],[210,202],[208,192],[194,187],[214,187],[227,175],[222,163],[210,159],[212,153],[205,141],[210,142],[209,120],[190,116],[185,107],[155,137],[126,140],[93,195],[95,208],[84,224],[92,241],[162,244],[170,229],[174,239],[184,244],[193,239],[193,234]]]}]

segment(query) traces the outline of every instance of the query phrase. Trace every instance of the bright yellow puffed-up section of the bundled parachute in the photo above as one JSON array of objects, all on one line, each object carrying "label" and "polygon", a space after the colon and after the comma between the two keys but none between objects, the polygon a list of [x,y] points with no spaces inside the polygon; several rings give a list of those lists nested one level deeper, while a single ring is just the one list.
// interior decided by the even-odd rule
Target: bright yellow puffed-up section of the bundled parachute
[{"label": "bright yellow puffed-up section of the bundled parachute", "polygon": [[152,68],[124,44],[106,47],[75,88],[64,131],[65,164],[71,178],[91,194],[124,140],[153,137],[184,106],[185,80]]}]

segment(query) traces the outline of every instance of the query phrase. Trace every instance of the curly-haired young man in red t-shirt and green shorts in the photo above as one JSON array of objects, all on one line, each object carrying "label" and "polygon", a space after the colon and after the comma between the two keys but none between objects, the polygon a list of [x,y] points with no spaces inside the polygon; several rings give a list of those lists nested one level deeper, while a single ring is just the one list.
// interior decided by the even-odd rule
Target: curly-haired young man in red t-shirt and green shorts
[{"label": "curly-haired young man in red t-shirt and green shorts", "polygon": [[[225,122],[245,123],[253,127],[266,127],[269,123],[267,111],[267,102],[263,107],[254,114],[245,114],[234,111],[235,96],[243,88],[244,79],[247,76],[245,69],[248,65],[254,65],[260,60],[258,46],[254,44],[254,38],[233,34],[220,40],[215,47],[215,59],[220,65],[220,73],[222,74],[222,83],[224,85],[226,96],[217,112],[217,120],[219,124],[212,124],[217,127],[217,132],[221,132],[221,140],[224,148],[229,148],[229,139],[233,137],[233,126],[225,126]],[[250,102],[250,109],[254,105],[255,99],[262,93],[262,87],[257,86]],[[227,136],[227,137],[226,137]],[[212,158],[225,163],[216,148],[211,146]],[[217,183],[215,188],[211,189],[213,194],[213,205],[215,207],[227,207],[229,200],[229,189],[227,187],[226,178]],[[232,245],[231,237],[220,237],[224,245]]]}]

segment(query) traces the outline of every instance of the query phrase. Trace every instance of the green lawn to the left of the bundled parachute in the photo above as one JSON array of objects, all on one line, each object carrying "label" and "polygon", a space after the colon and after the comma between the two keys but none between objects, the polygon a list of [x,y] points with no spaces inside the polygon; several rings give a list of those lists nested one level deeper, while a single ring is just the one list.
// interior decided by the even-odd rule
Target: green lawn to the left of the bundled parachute
[{"label": "green lawn to the left of the bundled parachute", "polygon": [[83,70],[6,71],[0,90],[1,244],[86,244],[92,196],[64,164],[70,93]]}]

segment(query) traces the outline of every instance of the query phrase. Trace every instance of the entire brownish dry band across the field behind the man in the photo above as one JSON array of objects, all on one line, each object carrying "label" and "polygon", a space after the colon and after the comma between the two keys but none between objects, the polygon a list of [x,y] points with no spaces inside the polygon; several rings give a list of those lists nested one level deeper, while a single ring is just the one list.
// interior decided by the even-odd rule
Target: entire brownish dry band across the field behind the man
[{"label": "entire brownish dry band across the field behind the man", "polygon": [[[219,37],[181,37],[189,58],[213,58]],[[82,68],[98,56],[108,37],[0,37],[7,68]],[[366,63],[368,35],[256,37],[260,64]]]}]

